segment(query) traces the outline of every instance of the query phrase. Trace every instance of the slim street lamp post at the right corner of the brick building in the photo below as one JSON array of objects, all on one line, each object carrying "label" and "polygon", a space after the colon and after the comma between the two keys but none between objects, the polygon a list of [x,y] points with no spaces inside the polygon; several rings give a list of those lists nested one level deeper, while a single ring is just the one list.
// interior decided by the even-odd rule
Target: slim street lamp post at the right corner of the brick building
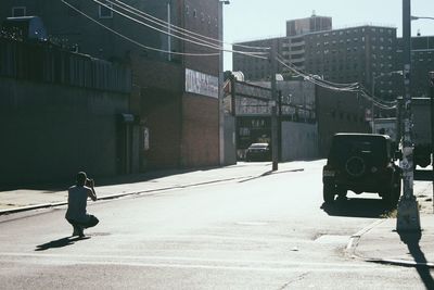
[{"label": "slim street lamp post at the right corner of the brick building", "polygon": [[224,108],[224,4],[229,1],[218,1],[218,39],[220,40],[220,51],[218,55],[218,135],[219,135],[219,156],[220,165],[225,165],[225,108]]}]

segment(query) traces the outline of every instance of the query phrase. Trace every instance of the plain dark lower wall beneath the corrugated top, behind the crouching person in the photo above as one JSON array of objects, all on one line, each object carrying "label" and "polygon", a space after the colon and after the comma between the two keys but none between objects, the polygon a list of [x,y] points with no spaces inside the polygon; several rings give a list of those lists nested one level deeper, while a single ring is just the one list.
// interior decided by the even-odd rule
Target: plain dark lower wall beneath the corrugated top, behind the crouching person
[{"label": "plain dark lower wall beneath the corrugated top, behind the crouching person", "polygon": [[114,175],[128,97],[0,77],[0,185]]}]

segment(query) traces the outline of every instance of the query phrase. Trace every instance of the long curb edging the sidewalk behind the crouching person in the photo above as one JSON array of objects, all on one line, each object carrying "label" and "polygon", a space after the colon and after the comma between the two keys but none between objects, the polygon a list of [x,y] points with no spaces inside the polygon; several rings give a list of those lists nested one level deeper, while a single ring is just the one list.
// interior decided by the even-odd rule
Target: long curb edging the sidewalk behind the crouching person
[{"label": "long curb edging the sidewalk behind the crouching person", "polygon": [[[118,198],[123,198],[123,197],[127,197],[127,196],[149,194],[149,193],[154,193],[154,192],[158,192],[158,191],[166,191],[166,190],[173,190],[173,189],[182,189],[182,188],[189,188],[189,187],[205,186],[205,185],[212,185],[212,184],[218,184],[218,182],[232,181],[232,180],[237,180],[237,179],[246,179],[246,181],[248,181],[252,178],[258,178],[258,177],[263,177],[263,176],[266,176],[266,175],[291,173],[291,172],[303,172],[303,171],[304,171],[304,168],[295,168],[295,169],[288,169],[288,171],[281,171],[281,172],[267,172],[267,173],[260,174],[258,176],[248,175],[248,176],[216,179],[216,180],[209,180],[209,181],[203,181],[203,182],[196,182],[196,184],[189,184],[189,185],[177,185],[177,186],[171,186],[171,187],[163,187],[163,188],[157,188],[157,189],[131,191],[131,192],[124,192],[124,193],[114,193],[114,194],[108,194],[108,196],[103,196],[101,198],[98,198],[97,201],[113,200],[113,199],[118,199]],[[26,212],[26,211],[34,211],[34,210],[39,210],[39,209],[56,207],[56,206],[62,206],[62,205],[67,205],[67,202],[41,203],[41,204],[36,204],[36,205],[27,205],[27,206],[20,206],[20,207],[0,210],[0,216],[14,214],[14,213],[20,213],[20,212]]]}]

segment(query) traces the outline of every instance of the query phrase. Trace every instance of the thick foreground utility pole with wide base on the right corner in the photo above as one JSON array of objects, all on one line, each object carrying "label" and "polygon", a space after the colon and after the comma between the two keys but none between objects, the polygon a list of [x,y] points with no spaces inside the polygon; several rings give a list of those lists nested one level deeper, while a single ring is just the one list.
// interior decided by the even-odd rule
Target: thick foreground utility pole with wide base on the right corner
[{"label": "thick foreground utility pole with wide base on the right corner", "polygon": [[403,184],[404,194],[398,203],[397,231],[420,231],[419,205],[413,194],[413,143],[410,94],[411,72],[411,1],[403,0],[404,40],[404,134],[403,134]]}]

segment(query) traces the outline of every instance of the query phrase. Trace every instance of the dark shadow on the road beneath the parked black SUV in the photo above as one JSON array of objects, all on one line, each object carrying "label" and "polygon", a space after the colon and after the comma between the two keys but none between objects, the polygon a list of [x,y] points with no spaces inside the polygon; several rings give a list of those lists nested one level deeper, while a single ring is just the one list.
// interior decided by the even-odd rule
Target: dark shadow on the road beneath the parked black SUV
[{"label": "dark shadow on the road beneath the parked black SUV", "polygon": [[333,216],[379,218],[390,215],[393,209],[386,209],[379,199],[337,199],[333,203],[323,203],[321,209]]}]

